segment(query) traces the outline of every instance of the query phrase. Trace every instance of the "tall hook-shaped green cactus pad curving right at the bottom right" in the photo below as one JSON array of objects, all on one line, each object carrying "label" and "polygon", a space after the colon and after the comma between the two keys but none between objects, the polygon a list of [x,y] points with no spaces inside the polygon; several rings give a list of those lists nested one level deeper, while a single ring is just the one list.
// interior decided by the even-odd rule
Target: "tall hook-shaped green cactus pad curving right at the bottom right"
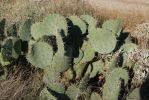
[{"label": "tall hook-shaped green cactus pad curving right at the bottom right", "polygon": [[106,77],[106,83],[104,84],[104,88],[103,88],[103,99],[104,100],[117,100],[118,99],[120,87],[121,87],[120,78],[124,79],[125,83],[128,82],[128,78],[129,78],[128,72],[121,68],[114,69]]}]

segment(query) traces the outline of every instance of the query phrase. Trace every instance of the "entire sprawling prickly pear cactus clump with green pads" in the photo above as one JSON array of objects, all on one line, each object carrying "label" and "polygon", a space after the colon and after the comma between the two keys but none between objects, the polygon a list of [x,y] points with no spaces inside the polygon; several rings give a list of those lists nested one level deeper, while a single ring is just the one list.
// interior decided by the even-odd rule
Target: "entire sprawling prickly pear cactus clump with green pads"
[{"label": "entire sprawling prickly pear cactus clump with green pads", "polygon": [[136,82],[141,68],[148,70],[149,53],[131,39],[122,40],[121,19],[107,20],[101,27],[98,22],[89,15],[49,14],[41,22],[26,19],[17,31],[14,27],[2,31],[0,25],[0,79],[6,78],[1,75],[4,66],[24,56],[32,67],[44,71],[41,100],[126,98],[128,81]]}]

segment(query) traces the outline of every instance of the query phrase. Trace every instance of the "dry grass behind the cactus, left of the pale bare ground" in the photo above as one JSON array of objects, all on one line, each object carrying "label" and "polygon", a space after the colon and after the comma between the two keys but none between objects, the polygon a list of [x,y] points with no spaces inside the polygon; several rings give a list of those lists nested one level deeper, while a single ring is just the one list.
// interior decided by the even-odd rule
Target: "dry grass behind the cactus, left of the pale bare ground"
[{"label": "dry grass behind the cactus, left of the pale bare ground", "polygon": [[49,13],[60,13],[64,16],[89,14],[98,19],[103,18],[97,15],[95,9],[81,0],[6,1],[0,3],[0,12],[1,19],[7,19],[7,23],[18,23],[26,17],[33,17],[34,21],[40,21]]}]

